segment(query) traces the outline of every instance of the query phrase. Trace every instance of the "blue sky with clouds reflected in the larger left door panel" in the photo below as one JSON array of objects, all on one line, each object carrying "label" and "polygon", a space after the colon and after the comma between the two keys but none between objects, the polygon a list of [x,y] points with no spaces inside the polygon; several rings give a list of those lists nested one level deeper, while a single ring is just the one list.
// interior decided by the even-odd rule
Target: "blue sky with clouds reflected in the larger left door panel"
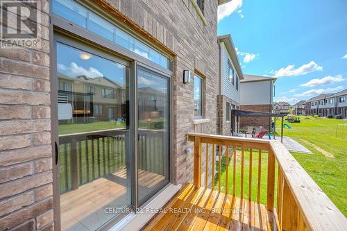
[{"label": "blue sky with clouds reflected in the larger left door panel", "polygon": [[57,69],[71,78],[105,77],[119,85],[125,85],[126,67],[117,62],[57,43]]}]

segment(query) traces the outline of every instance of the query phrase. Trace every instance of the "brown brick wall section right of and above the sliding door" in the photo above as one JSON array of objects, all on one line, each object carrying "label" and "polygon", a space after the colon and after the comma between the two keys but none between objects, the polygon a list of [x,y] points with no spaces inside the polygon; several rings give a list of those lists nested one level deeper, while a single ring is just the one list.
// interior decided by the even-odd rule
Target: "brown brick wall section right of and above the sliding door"
[{"label": "brown brick wall section right of and above the sliding door", "polygon": [[176,54],[172,76],[172,168],[174,183],[183,184],[193,177],[193,155],[187,155],[185,149],[193,148],[193,144],[187,142],[186,134],[195,129],[194,83],[183,84],[184,70],[197,70],[205,79],[204,117],[210,120],[206,122],[208,126],[201,126],[199,130],[217,132],[217,1],[205,1],[206,26],[191,0],[118,0],[110,3]]}]

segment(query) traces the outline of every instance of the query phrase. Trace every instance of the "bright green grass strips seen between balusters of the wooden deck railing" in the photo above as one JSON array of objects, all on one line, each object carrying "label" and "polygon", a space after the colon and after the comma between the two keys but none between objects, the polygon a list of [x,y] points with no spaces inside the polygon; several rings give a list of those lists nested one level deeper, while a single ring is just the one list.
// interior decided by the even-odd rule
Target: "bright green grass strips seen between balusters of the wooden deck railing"
[{"label": "bright green grass strips seen between balusters of the wooden deck railing", "polygon": [[[248,149],[244,150],[244,198],[248,199],[248,185],[249,185],[249,158],[250,152]],[[267,191],[267,159],[268,153],[262,151],[261,158],[261,174],[260,174],[260,203],[266,205],[266,191]],[[241,196],[241,149],[237,149],[236,155],[236,196]],[[251,197],[253,201],[257,201],[257,184],[258,184],[258,162],[259,162],[259,153],[257,150],[253,150],[252,154],[252,192]],[[217,171],[218,171],[218,162],[217,162]],[[275,182],[277,182],[277,164],[275,171]],[[228,194],[232,194],[232,179],[233,179],[233,157],[229,157],[229,166],[228,166]],[[218,173],[214,178],[214,188],[218,189]],[[226,185],[226,158],[223,157],[221,160],[221,191],[225,191]],[[275,192],[277,191],[277,184],[275,184]],[[275,198],[276,203],[276,198]],[[275,204],[276,205],[276,204]]]}]

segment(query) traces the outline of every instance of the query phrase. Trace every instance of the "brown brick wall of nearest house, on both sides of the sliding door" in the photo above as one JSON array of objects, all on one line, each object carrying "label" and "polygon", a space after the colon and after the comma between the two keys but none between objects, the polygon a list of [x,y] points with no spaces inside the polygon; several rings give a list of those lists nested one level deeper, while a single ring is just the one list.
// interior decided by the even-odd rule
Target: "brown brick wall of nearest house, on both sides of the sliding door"
[{"label": "brown brick wall of nearest house, on both sides of the sliding door", "polygon": [[[42,47],[0,49],[0,230],[53,230],[49,1],[43,6]],[[101,2],[101,1],[95,1]],[[105,4],[105,1],[102,1]],[[216,133],[218,85],[217,1],[205,1],[198,16],[190,0],[108,1],[174,55],[172,76],[172,166],[174,183],[192,180],[187,132]],[[153,41],[152,41],[153,42]],[[183,71],[205,78],[204,125],[194,125],[194,83]]]}]

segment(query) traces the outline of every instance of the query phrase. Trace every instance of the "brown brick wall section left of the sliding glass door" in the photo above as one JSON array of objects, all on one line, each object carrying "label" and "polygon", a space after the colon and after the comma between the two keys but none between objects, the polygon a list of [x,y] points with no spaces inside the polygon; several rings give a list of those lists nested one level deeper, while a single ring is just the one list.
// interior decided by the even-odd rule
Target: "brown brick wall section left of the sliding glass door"
[{"label": "brown brick wall section left of the sliding glass door", "polygon": [[49,4],[42,47],[0,48],[0,230],[53,230]]}]

